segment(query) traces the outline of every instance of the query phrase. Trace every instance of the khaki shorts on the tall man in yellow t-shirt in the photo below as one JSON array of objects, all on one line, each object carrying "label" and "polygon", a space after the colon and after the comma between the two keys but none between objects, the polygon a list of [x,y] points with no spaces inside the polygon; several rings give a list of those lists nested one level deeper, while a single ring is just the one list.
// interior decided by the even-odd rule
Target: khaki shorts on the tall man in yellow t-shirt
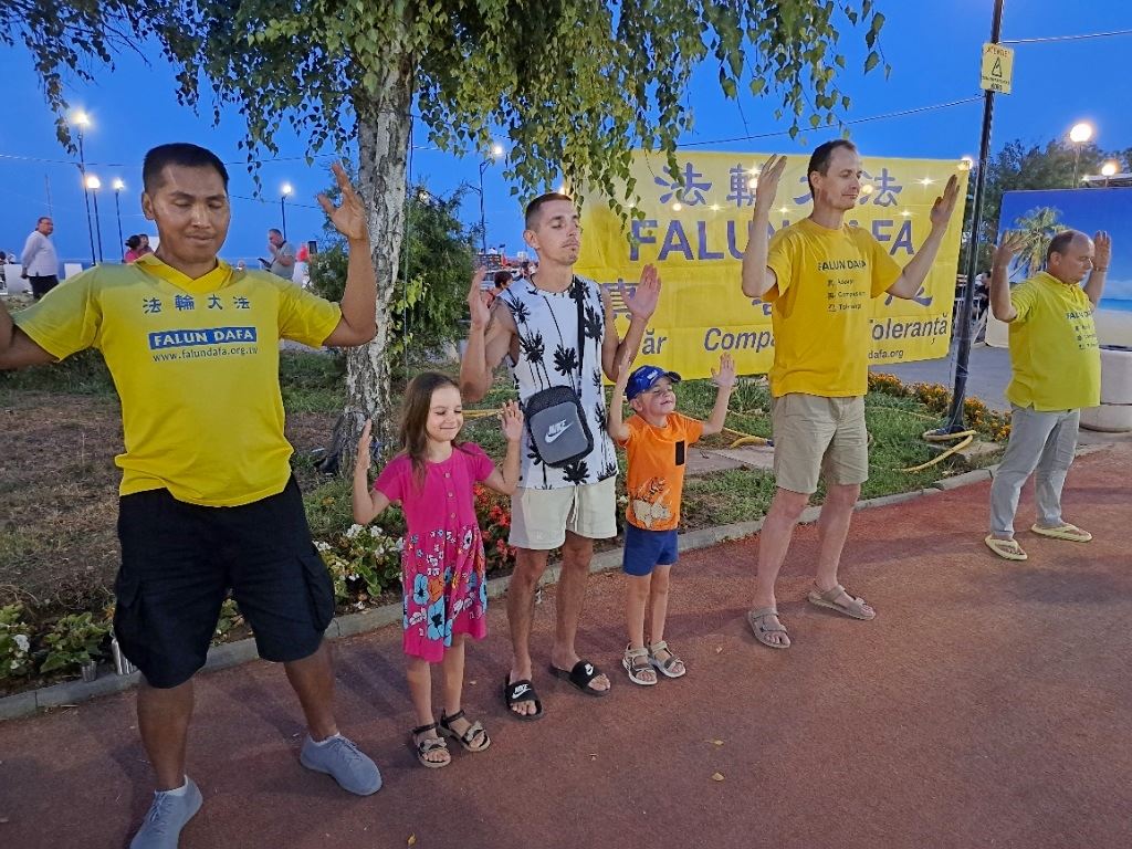
[{"label": "khaki shorts on the tall man in yellow t-shirt", "polygon": [[826,398],[792,392],[771,403],[774,430],[774,482],[811,495],[818,475],[826,484],[868,480],[865,398]]}]

